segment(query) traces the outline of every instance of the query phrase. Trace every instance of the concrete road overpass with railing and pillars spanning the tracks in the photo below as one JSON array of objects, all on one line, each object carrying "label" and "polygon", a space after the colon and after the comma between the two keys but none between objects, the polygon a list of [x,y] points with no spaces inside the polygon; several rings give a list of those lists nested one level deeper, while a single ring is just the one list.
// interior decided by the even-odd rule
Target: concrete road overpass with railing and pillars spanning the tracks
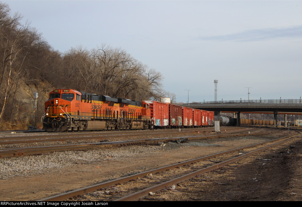
[{"label": "concrete road overpass with railing and pillars spanning the tracks", "polygon": [[[240,113],[273,113],[275,120],[277,115],[289,113],[302,113],[302,100],[300,99],[259,99],[259,100],[232,100],[232,101],[211,101],[211,102],[193,102],[183,104],[182,106],[189,108],[197,108],[207,111],[234,112],[234,118],[237,118],[237,126],[240,125]],[[236,114],[235,114],[236,113]],[[277,128],[277,122],[275,122]]]}]

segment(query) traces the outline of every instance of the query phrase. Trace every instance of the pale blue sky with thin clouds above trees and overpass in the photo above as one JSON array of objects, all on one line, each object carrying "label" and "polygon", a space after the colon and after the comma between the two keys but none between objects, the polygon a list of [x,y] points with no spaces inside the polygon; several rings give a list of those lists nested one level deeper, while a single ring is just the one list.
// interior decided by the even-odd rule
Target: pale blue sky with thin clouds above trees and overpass
[{"label": "pale blue sky with thin clouds above trees and overpass", "polygon": [[302,1],[2,1],[56,50],[105,43],[160,71],[177,102],[299,99]]}]

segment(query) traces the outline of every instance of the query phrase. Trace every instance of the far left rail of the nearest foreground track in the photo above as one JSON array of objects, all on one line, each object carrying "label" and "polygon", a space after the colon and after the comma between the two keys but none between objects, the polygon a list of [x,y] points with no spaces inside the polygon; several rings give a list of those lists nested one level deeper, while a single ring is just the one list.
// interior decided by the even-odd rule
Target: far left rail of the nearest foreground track
[{"label": "far left rail of the nearest foreground track", "polygon": [[[258,146],[258,145],[262,145],[262,144],[266,144],[266,143],[270,143],[270,142],[275,142],[275,141],[278,141],[278,140],[281,140],[281,139],[286,139],[286,138],[291,137],[291,136],[299,136],[299,135],[284,136],[284,137],[277,138],[277,139],[274,139],[274,140],[269,140],[269,141],[262,142],[262,143],[252,144],[252,145],[249,145],[249,146],[244,146],[244,147],[231,149],[231,150],[224,151],[224,152],[219,152],[219,153],[216,153],[216,154],[213,154],[213,155],[207,155],[207,156],[204,156],[204,157],[201,157],[201,158],[196,158],[196,159],[188,160],[188,161],[185,161],[185,162],[180,162],[180,163],[164,166],[164,167],[161,167],[161,168],[152,169],[152,170],[149,170],[149,171],[133,174],[133,175],[130,175],[130,176],[127,176],[127,177],[122,177],[122,178],[107,181],[107,182],[104,182],[104,183],[95,184],[95,185],[92,185],[92,186],[89,186],[89,187],[85,187],[85,188],[81,188],[81,189],[77,189],[77,190],[72,190],[72,191],[69,191],[67,193],[62,193],[62,194],[59,194],[59,195],[56,195],[56,196],[51,196],[51,197],[48,197],[48,198],[45,198],[45,199],[41,199],[40,201],[66,200],[66,199],[72,198],[74,196],[78,196],[78,195],[82,195],[82,194],[85,194],[85,193],[90,193],[90,192],[96,191],[98,189],[111,187],[111,186],[114,186],[116,184],[126,183],[130,180],[134,180],[134,179],[137,179],[137,178],[140,178],[140,177],[144,177],[144,176],[146,176],[150,173],[155,174],[155,173],[163,172],[163,171],[166,171],[166,170],[169,170],[169,169],[182,167],[184,165],[190,165],[190,164],[195,163],[195,162],[199,162],[199,161],[214,158],[214,157],[217,157],[217,156],[220,156],[220,155],[236,152],[236,151],[239,151],[239,150],[242,150],[242,149],[246,149],[246,148],[250,148],[250,147],[254,147],[254,146]],[[276,146],[276,145],[273,145],[273,146]]]}]

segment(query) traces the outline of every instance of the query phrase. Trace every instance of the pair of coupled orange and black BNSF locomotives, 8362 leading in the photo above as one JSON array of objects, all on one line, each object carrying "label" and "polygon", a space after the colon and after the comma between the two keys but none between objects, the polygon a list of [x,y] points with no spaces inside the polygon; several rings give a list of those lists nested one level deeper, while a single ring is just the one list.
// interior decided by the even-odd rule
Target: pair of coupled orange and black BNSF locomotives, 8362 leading
[{"label": "pair of coupled orange and black BNSF locomotives, 8362 leading", "polygon": [[49,93],[45,102],[42,123],[49,132],[148,129],[150,109],[144,101],[57,89]]}]

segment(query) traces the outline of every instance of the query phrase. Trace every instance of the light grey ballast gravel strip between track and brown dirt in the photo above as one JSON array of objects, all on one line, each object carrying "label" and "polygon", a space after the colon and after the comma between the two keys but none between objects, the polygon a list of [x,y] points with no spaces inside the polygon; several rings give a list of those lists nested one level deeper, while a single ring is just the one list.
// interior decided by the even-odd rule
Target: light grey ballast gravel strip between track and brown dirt
[{"label": "light grey ballast gravel strip between track and brown dirt", "polygon": [[173,150],[185,146],[219,146],[208,143],[167,143],[163,146],[126,146],[117,148],[90,149],[85,151],[52,152],[43,155],[30,155],[0,159],[0,179],[14,176],[43,174],[53,169],[77,164],[87,164],[99,160],[119,159],[142,154],[152,155],[159,150]]}]

